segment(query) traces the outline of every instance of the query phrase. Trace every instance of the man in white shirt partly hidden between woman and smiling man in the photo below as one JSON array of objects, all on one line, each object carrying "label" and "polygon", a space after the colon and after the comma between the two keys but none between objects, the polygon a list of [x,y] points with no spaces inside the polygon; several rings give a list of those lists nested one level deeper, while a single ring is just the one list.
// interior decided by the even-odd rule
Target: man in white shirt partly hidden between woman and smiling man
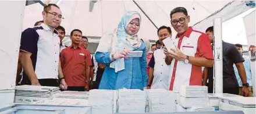
[{"label": "man in white shirt partly hidden between woman and smiling man", "polygon": [[[172,30],[170,27],[162,26],[158,29],[158,38],[161,45],[163,45],[163,40],[171,37]],[[148,66],[150,67],[148,73],[148,88],[169,90],[170,65],[166,65],[165,63],[165,54],[163,53],[162,47],[154,51]]]}]

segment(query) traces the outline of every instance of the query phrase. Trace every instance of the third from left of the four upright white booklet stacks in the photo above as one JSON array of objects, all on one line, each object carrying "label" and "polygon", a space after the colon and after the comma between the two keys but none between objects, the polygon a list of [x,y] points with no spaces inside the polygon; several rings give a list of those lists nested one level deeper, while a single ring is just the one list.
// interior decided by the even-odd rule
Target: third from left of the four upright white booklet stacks
[{"label": "third from left of the four upright white booklet stacks", "polygon": [[148,90],[150,113],[176,112],[175,92],[167,90]]}]

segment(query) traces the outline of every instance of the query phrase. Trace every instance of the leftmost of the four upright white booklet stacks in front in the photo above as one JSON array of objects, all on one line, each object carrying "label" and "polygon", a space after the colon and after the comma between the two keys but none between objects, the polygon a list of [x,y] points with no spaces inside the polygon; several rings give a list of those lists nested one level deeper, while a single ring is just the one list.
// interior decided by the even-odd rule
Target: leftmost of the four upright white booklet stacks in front
[{"label": "leftmost of the four upright white booklet stacks in front", "polygon": [[89,105],[91,113],[116,113],[116,90],[90,90]]}]

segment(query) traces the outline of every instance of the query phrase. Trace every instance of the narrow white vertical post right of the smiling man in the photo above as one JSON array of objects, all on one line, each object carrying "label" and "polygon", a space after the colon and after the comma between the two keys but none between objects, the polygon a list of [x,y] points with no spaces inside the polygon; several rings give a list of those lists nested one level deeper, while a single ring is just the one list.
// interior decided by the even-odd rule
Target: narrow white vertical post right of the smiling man
[{"label": "narrow white vertical post right of the smiling man", "polygon": [[223,92],[222,21],[214,19],[214,92]]}]

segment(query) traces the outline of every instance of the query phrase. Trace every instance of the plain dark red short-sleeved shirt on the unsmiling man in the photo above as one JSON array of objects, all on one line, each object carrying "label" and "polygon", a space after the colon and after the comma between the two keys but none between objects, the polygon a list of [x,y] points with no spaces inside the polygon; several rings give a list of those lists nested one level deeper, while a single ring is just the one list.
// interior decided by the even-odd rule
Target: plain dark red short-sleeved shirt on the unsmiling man
[{"label": "plain dark red short-sleeved shirt on the unsmiling man", "polygon": [[86,66],[91,66],[91,55],[83,47],[67,47],[61,52],[61,66],[67,86],[86,85]]}]

